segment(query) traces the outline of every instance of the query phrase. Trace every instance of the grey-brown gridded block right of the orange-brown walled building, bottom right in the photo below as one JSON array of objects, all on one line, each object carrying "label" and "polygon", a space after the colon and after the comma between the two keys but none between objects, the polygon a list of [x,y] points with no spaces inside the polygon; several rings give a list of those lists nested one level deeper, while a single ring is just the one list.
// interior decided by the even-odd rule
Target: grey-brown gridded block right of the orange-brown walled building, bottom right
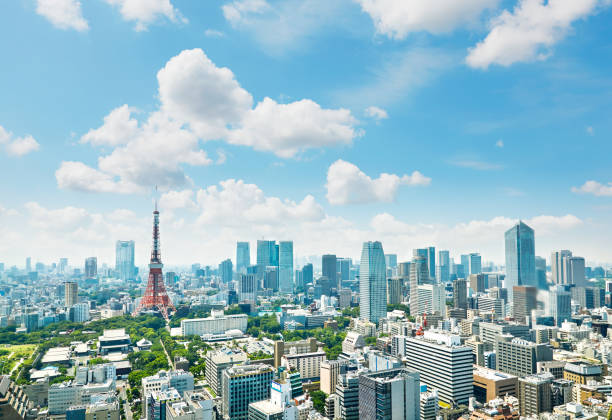
[{"label": "grey-brown gridded block right of the orange-brown walled building, bottom right", "polygon": [[519,378],[519,407],[521,417],[538,417],[548,413],[552,406],[552,381],[550,373],[540,373]]}]

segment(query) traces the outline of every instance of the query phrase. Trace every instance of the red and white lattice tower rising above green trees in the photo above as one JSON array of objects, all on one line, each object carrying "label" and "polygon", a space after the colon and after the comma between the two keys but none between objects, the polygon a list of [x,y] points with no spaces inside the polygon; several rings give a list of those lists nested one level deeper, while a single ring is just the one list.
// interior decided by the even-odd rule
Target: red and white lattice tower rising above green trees
[{"label": "red and white lattice tower rising above green trees", "polygon": [[151,250],[151,262],[149,263],[149,282],[145,294],[138,305],[137,312],[143,309],[159,311],[166,320],[169,319],[168,311],[174,309],[164,286],[164,276],[162,274],[161,251],[159,249],[159,211],[155,203],[153,212],[153,249]]}]

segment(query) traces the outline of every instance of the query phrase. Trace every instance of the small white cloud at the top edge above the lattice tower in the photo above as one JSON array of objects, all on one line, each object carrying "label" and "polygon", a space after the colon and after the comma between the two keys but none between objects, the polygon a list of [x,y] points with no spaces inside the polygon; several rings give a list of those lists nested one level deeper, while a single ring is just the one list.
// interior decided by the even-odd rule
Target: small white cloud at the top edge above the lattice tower
[{"label": "small white cloud at the top edge above the lattice tower", "polygon": [[106,2],[118,7],[125,20],[135,22],[137,31],[146,30],[150,24],[164,17],[171,22],[187,23],[187,19],[170,0],[106,0]]}]

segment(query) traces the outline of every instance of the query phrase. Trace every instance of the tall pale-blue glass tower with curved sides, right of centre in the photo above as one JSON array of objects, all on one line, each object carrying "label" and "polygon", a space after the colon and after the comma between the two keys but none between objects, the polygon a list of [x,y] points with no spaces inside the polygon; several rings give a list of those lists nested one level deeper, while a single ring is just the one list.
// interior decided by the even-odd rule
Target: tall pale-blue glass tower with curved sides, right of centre
[{"label": "tall pale-blue glass tower with curved sides, right of centre", "polygon": [[382,244],[364,242],[359,265],[359,317],[376,325],[387,316],[386,274]]}]

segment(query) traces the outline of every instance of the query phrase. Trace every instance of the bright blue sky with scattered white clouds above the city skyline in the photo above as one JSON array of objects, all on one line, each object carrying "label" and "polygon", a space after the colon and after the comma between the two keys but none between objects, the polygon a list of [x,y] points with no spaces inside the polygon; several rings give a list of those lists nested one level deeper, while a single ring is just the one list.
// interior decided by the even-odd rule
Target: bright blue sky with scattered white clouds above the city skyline
[{"label": "bright blue sky with scattered white clouds above the city skyline", "polygon": [[[364,240],[607,262],[606,0],[18,0],[0,6],[0,261]],[[27,28],[27,30],[24,30]],[[381,174],[383,174],[381,176]]]}]

